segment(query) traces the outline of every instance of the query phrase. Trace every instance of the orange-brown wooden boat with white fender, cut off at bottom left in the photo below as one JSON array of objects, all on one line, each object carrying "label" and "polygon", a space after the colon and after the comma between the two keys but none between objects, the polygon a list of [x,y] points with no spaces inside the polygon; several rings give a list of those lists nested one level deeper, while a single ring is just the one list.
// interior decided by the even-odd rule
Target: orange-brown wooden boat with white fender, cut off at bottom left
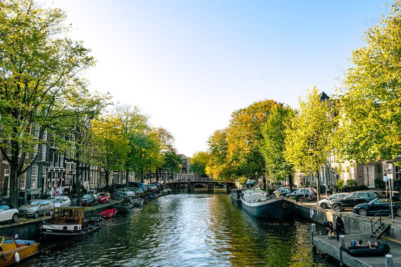
[{"label": "orange-brown wooden boat with white fender, cut off at bottom left", "polygon": [[0,250],[0,266],[8,266],[39,253],[39,243],[0,235]]}]

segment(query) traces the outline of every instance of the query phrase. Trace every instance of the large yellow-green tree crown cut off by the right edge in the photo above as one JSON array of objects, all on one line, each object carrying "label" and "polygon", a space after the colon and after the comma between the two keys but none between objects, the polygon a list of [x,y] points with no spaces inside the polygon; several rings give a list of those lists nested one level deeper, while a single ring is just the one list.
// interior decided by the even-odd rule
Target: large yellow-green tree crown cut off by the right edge
[{"label": "large yellow-green tree crown cut off by the right edge", "polygon": [[[394,1],[387,16],[365,31],[365,47],[352,52],[339,90],[339,127],[333,146],[358,163],[392,160],[401,150],[401,13]],[[342,94],[342,95],[341,95]]]}]

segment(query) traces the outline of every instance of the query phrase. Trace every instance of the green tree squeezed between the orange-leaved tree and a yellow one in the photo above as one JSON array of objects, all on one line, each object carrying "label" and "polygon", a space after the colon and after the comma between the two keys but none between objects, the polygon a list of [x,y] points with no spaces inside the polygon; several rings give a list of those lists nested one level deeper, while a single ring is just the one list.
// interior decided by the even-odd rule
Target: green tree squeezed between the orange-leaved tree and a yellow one
[{"label": "green tree squeezed between the orange-leaved tree and a yellow one", "polygon": [[286,128],[290,127],[295,115],[291,107],[275,106],[261,129],[263,135],[261,152],[266,162],[266,171],[276,181],[290,178],[291,184],[294,166],[285,160],[284,150]]}]

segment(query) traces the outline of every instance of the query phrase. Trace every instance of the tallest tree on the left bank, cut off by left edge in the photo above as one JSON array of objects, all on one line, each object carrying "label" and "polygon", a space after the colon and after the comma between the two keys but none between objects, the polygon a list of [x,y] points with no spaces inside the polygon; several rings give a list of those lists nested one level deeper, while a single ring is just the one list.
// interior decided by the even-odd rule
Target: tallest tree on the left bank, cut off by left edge
[{"label": "tallest tree on the left bank, cut off by left edge", "polygon": [[65,18],[61,10],[42,10],[31,0],[0,2],[0,148],[11,167],[14,205],[18,178],[37,158],[29,153],[44,142],[45,131],[57,138],[59,118],[68,116],[63,103],[71,94],[83,95],[78,73],[94,64],[88,49],[65,36]]}]

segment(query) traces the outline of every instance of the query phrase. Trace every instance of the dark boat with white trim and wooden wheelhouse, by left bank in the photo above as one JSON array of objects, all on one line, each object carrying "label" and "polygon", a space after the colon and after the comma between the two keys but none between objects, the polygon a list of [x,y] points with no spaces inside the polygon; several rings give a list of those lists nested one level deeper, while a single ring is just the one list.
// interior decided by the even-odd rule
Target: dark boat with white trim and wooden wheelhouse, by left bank
[{"label": "dark boat with white trim and wooden wheelhouse, by left bank", "polygon": [[55,207],[50,222],[40,228],[42,240],[76,238],[100,228],[99,219],[85,219],[85,207]]}]

